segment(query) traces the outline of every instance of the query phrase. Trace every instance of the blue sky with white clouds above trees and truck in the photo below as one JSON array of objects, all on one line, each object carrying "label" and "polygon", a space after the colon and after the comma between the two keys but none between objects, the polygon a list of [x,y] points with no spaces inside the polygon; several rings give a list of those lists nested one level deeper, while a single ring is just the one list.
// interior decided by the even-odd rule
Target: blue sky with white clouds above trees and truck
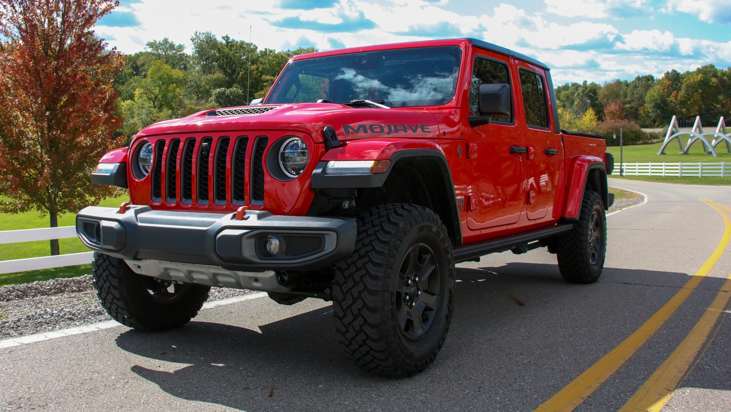
[{"label": "blue sky with white clouds above trees and truck", "polygon": [[[194,31],[320,50],[477,37],[545,61],[556,83],[731,66],[731,0],[122,0],[96,32],[123,53]],[[517,5],[516,5],[517,4]]]}]

